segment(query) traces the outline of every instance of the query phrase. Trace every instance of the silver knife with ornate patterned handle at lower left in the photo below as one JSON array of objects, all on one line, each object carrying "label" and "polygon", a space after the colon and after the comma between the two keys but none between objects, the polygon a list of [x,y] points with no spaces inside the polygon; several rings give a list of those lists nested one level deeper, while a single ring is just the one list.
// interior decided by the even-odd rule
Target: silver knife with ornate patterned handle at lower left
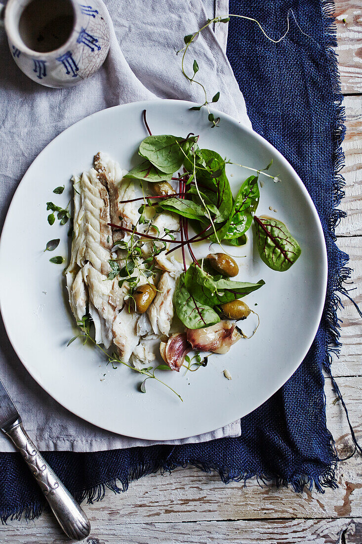
[{"label": "silver knife with ornate patterned handle at lower left", "polygon": [[11,438],[21,453],[65,534],[73,540],[85,539],[90,533],[88,517],[30,440],[19,412],[1,380],[0,429]]}]

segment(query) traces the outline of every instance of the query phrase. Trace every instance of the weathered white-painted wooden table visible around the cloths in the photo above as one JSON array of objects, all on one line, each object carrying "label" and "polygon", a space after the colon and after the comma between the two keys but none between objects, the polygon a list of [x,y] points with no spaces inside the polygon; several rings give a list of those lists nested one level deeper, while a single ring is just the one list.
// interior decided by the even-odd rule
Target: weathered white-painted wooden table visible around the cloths
[{"label": "weathered white-painted wooden table visible around the cloths", "polygon": [[[337,0],[339,63],[345,95],[347,134],[346,198],[341,208],[348,217],[338,226],[338,244],[350,256],[355,301],[362,304],[362,4]],[[349,409],[357,437],[362,441],[362,320],[346,300],[343,348],[333,372]],[[351,452],[351,438],[340,402],[326,380],[327,423],[340,456]],[[216,474],[195,468],[171,475],[153,474],[129,486],[127,493],[105,493],[102,502],[84,505],[92,524],[87,544],[361,544],[362,459],[339,463],[337,490],[295,493],[259,487],[225,486]],[[46,511],[35,522],[0,526],[1,544],[63,544],[63,536]]]}]

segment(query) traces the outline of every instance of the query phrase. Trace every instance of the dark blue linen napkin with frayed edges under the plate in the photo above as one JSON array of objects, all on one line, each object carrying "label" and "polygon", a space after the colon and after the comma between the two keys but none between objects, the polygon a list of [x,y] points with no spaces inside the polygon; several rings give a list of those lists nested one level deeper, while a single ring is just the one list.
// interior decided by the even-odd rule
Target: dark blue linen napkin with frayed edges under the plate
[{"label": "dark blue linen napkin with frayed edges under the plate", "polygon": [[[241,436],[202,444],[151,446],[96,453],[47,452],[45,458],[78,499],[101,498],[104,486],[126,490],[141,475],[192,463],[219,472],[224,482],[258,475],[296,491],[313,483],[335,487],[336,454],[326,427],[322,374],[338,348],[338,292],[349,277],[348,256],[335,245],[334,227],[342,212],[338,171],[343,156],[342,96],[338,84],[329,0],[230,0],[230,13],[263,23],[276,38],[292,8],[302,34],[291,22],[280,44],[258,27],[232,19],[227,55],[242,90],[255,131],[294,166],[313,198],[328,251],[328,288],[319,331],[307,357],[290,380],[241,420]],[[3,520],[41,512],[42,498],[17,454],[0,454],[0,515]]]}]

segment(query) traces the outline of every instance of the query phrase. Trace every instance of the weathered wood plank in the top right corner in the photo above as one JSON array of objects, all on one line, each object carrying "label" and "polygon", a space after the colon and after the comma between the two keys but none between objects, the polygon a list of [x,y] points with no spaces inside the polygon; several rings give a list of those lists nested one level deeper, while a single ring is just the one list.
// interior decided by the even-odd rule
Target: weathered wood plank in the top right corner
[{"label": "weathered wood plank in the top right corner", "polygon": [[359,0],[335,2],[337,53],[343,94],[362,92],[362,6]]}]

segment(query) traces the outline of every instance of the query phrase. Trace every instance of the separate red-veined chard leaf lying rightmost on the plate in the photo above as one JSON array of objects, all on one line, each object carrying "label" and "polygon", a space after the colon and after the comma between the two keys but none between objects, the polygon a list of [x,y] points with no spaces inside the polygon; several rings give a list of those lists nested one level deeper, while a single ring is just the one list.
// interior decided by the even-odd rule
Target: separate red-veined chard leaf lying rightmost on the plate
[{"label": "separate red-veined chard leaf lying rightmost on the plate", "polygon": [[276,219],[254,216],[258,250],[264,263],[278,272],[288,270],[301,255],[301,248],[288,228]]}]

